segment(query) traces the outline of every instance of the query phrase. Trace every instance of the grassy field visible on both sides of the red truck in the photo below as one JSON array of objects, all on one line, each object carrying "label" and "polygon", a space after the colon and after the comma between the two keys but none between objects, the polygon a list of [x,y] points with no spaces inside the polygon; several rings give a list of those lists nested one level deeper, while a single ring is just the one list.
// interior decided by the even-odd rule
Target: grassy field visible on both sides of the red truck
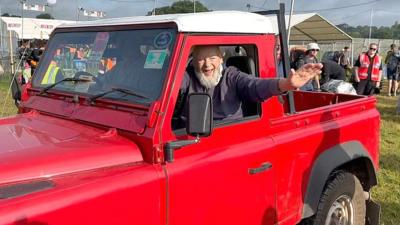
[{"label": "grassy field visible on both sides of the red truck", "polygon": [[[9,79],[0,78],[0,113],[9,87]],[[383,93],[385,94],[385,93]],[[382,206],[382,225],[400,224],[400,115],[396,115],[396,98],[378,96],[381,112],[381,155],[379,185],[374,188],[373,197]],[[11,97],[6,103],[3,116],[16,113]]]}]

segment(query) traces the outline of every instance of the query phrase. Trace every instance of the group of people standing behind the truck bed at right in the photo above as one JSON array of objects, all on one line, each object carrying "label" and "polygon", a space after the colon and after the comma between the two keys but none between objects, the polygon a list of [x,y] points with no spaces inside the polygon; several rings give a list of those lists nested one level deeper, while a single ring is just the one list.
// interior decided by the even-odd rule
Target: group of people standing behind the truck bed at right
[{"label": "group of people standing behind the truck bed at right", "polygon": [[[323,85],[332,80],[346,81],[353,85],[358,95],[373,95],[382,89],[383,68],[386,65],[388,82],[387,95],[397,96],[400,81],[400,47],[390,46],[385,59],[378,54],[378,44],[371,43],[366,52],[360,53],[354,65],[350,62],[350,48],[344,47],[335,51],[330,57],[322,59],[323,69],[320,77],[316,77],[300,88],[305,91],[320,91]],[[295,46],[290,50],[291,68],[299,68],[304,63],[316,63],[320,47],[317,43],[309,43],[306,47]]]}]

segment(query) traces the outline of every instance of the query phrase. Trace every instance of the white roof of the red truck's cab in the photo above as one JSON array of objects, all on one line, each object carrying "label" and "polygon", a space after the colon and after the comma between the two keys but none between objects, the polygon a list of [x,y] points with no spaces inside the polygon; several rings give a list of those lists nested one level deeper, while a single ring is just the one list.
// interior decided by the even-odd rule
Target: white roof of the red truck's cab
[{"label": "white roof of the red truck's cab", "polygon": [[265,16],[241,11],[213,11],[160,16],[137,16],[63,24],[59,27],[94,27],[129,24],[175,23],[179,32],[274,33],[271,20]]}]

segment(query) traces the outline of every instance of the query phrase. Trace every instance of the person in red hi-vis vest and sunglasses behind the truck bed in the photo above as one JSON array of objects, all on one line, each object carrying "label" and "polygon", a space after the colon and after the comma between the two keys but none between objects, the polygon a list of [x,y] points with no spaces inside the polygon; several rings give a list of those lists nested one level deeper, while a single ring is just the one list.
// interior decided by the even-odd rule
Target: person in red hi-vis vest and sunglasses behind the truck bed
[{"label": "person in red hi-vis vest and sunglasses behind the truck bed", "polygon": [[382,78],[382,59],[377,53],[378,45],[371,43],[367,52],[361,53],[354,64],[357,94],[373,95]]}]

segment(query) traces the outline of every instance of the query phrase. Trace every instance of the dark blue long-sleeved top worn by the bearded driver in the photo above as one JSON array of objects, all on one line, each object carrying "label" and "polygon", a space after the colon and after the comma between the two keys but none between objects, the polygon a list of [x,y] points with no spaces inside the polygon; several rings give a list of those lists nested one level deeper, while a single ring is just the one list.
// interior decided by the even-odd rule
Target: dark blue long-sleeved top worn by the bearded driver
[{"label": "dark blue long-sleeved top worn by the bearded driver", "polygon": [[279,79],[262,79],[248,75],[230,66],[222,72],[221,80],[214,88],[205,88],[197,79],[193,67],[184,75],[180,93],[184,95],[182,119],[186,121],[190,93],[208,93],[213,98],[214,120],[234,120],[243,117],[243,101],[262,102],[279,95]]}]

